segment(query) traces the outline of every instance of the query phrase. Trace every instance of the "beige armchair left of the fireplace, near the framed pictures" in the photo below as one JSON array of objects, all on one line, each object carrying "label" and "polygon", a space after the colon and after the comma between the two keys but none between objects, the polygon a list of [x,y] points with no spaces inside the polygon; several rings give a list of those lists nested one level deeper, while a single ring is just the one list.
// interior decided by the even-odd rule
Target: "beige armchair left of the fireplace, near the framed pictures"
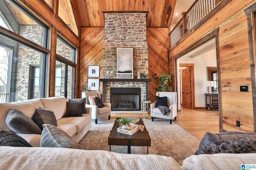
[{"label": "beige armchair left of the fireplace, near the framed pictures", "polygon": [[101,97],[99,92],[83,92],[82,93],[82,98],[86,98],[85,106],[92,108],[92,119],[95,119],[95,123],[98,124],[98,119],[106,116],[108,116],[108,120],[110,120],[111,103],[103,103],[104,107],[98,108],[96,104],[94,105],[90,104],[89,102],[90,96],[95,96],[98,98],[101,98]]}]

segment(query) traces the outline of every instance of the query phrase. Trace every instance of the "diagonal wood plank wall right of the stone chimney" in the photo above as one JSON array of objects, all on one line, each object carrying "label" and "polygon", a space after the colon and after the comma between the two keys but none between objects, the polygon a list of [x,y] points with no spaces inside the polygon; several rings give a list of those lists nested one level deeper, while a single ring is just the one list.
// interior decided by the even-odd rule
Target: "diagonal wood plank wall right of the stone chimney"
[{"label": "diagonal wood plank wall right of the stone chimney", "polygon": [[[152,79],[148,85],[148,96],[151,102],[156,101],[155,88],[157,86],[157,82],[152,78],[152,74],[157,73],[158,76],[160,76],[162,73],[169,74],[167,54],[169,48],[168,31],[168,28],[164,27],[147,28],[148,78]],[[174,75],[171,75],[172,78],[174,78]],[[172,85],[172,87],[174,89],[174,85]]]}]

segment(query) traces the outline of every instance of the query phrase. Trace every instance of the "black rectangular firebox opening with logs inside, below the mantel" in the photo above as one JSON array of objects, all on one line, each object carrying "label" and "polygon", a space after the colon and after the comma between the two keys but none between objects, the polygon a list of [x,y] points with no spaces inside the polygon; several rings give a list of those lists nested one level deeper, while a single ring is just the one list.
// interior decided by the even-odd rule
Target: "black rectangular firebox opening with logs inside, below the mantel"
[{"label": "black rectangular firebox opening with logs inside, below the mantel", "polygon": [[140,88],[110,88],[111,110],[141,110]]}]

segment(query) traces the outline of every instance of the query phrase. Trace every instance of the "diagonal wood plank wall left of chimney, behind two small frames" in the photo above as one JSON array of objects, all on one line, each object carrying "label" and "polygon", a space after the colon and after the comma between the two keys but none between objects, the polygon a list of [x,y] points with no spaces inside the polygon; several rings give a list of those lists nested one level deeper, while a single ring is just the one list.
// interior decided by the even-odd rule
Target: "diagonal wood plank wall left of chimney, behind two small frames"
[{"label": "diagonal wood plank wall left of chimney, behind two small frames", "polygon": [[[80,92],[78,96],[81,97],[81,89],[84,83],[88,82],[89,65],[99,65],[99,78],[102,78],[104,27],[82,27],[80,41]],[[102,82],[100,82],[100,93],[102,94]]]}]

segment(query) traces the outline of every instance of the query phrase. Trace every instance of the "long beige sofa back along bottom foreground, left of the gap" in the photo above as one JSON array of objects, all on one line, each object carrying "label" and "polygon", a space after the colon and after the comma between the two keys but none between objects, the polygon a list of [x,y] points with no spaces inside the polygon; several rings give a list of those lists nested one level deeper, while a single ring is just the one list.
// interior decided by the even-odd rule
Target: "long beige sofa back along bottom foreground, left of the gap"
[{"label": "long beige sofa back along bottom foreground, left of the gap", "polygon": [[0,147],[0,162],[3,170],[182,169],[173,158],[168,156],[42,147]]}]

